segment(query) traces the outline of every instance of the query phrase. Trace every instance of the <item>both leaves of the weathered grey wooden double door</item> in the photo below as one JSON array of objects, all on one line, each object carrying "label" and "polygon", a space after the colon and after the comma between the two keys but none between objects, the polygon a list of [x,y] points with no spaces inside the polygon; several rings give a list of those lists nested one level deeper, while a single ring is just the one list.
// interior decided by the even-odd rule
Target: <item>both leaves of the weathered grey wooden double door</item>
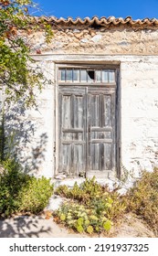
[{"label": "both leaves of the weathered grey wooden double door", "polygon": [[[88,79],[94,80],[90,72]],[[115,77],[101,86],[65,80],[64,75],[58,86],[58,173],[111,176],[116,166]]]}]

